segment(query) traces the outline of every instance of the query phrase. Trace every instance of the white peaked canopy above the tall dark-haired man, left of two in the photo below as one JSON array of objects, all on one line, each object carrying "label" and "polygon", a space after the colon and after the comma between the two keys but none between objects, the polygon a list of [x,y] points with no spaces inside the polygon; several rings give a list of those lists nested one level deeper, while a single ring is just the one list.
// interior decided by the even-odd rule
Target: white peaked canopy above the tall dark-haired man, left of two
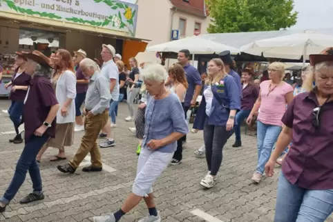
[{"label": "white peaked canopy above the tall dark-haired man, left of two", "polygon": [[237,48],[196,36],[150,46],[146,48],[146,52],[179,52],[183,49],[189,50],[192,54],[218,54],[226,50],[229,50],[231,54],[239,52]]}]

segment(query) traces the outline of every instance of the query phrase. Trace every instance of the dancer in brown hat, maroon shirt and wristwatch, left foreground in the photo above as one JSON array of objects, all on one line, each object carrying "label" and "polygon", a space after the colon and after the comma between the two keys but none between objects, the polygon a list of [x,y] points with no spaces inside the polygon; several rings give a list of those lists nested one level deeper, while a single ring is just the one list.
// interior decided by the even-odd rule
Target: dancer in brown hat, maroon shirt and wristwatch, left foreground
[{"label": "dancer in brown hat, maroon shirt and wristwatch, left foreground", "polygon": [[50,82],[50,60],[37,50],[32,53],[24,53],[24,56],[27,58],[26,73],[32,76],[23,108],[26,144],[17,162],[12,181],[5,194],[0,198],[0,212],[4,212],[6,206],[14,199],[15,194],[26,179],[28,170],[33,191],[25,196],[20,203],[30,203],[44,199],[41,173],[36,156],[41,146],[50,137],[55,137],[55,117],[59,104]]}]

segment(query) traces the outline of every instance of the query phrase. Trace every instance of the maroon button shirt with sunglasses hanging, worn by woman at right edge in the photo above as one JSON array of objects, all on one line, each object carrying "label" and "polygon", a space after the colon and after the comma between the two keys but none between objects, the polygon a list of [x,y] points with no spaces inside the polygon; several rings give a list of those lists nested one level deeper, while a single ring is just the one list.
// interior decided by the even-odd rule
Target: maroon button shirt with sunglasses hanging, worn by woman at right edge
[{"label": "maroon button shirt with sunglasses hanging, worn by woman at right edge", "polygon": [[292,146],[282,171],[290,183],[310,190],[333,189],[333,101],[321,110],[320,128],[312,125],[318,100],[314,92],[298,94],[288,105],[283,123],[292,128]]}]

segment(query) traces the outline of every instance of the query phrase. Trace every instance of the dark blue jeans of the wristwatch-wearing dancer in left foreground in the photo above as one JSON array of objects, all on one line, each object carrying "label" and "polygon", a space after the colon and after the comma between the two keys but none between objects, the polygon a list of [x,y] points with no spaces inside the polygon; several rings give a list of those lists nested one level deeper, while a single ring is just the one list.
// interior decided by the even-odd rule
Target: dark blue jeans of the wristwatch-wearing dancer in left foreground
[{"label": "dark blue jeans of the wristwatch-wearing dancer in left foreground", "polygon": [[0,198],[0,202],[8,204],[14,196],[19,191],[19,188],[26,180],[26,173],[29,170],[30,178],[32,181],[33,192],[40,194],[42,191],[41,186],[41,172],[39,171],[39,166],[36,161],[36,156],[41,150],[41,147],[48,141],[49,137],[44,135],[42,137],[36,137],[33,135],[26,141],[21,157],[17,161],[15,174],[12,177],[12,182],[10,182],[3,197]]}]

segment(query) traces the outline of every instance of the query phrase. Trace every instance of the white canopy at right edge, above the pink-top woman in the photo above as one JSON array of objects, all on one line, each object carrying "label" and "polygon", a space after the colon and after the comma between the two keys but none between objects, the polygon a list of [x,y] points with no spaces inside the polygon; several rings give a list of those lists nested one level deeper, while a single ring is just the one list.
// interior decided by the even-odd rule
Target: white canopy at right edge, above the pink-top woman
[{"label": "white canopy at right edge, above the pink-top woman", "polygon": [[310,54],[321,52],[333,46],[333,35],[314,31],[304,31],[294,34],[254,41],[240,48],[241,52],[264,57],[282,59],[309,59]]}]

